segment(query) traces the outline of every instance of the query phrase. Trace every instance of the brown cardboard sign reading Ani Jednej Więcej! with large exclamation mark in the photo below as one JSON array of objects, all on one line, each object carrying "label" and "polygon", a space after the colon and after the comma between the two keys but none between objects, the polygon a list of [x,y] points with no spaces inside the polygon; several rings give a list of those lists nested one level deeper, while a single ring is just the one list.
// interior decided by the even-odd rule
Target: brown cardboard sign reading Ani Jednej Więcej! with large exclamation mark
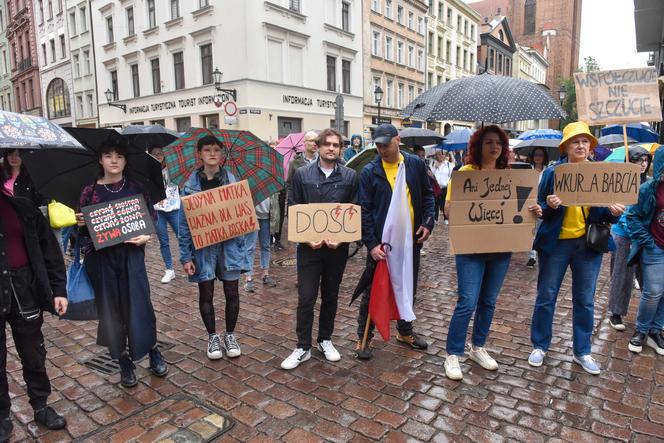
[{"label": "brown cardboard sign reading Ani Jednej Wi\u0119cej! with large exclamation mark", "polygon": [[453,254],[530,251],[537,218],[538,174],[532,169],[455,171],[450,200]]}]

